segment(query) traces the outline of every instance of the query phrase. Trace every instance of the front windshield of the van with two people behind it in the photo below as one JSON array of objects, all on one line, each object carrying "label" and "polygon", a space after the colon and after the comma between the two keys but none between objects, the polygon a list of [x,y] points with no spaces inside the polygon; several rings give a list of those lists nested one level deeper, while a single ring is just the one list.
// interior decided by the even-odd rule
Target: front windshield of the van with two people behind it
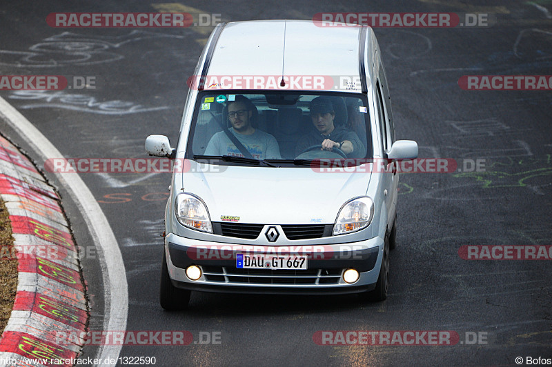
[{"label": "front windshield of the van with two people behind it", "polygon": [[372,155],[364,95],[240,92],[199,93],[188,157],[233,164]]}]

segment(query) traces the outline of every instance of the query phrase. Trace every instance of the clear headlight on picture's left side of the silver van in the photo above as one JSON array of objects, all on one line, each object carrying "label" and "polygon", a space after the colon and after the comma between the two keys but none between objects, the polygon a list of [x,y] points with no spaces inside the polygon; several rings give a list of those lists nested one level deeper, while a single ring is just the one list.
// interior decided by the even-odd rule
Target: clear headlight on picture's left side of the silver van
[{"label": "clear headlight on picture's left side of the silver van", "polygon": [[213,233],[209,212],[199,197],[180,193],[175,200],[175,212],[178,221],[183,226]]}]

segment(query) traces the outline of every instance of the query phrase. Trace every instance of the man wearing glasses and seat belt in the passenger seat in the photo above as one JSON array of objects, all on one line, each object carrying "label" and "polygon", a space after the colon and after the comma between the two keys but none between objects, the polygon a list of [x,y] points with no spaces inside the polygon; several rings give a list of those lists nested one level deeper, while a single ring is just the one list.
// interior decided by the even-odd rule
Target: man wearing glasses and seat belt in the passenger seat
[{"label": "man wearing glasses and seat belt in the passenger seat", "polygon": [[[275,137],[251,125],[254,108],[253,103],[242,95],[238,95],[233,101],[230,101],[228,103],[228,121],[232,127],[228,130],[244,145],[253,158],[282,159]],[[213,135],[204,154],[244,157],[224,131]]]}]

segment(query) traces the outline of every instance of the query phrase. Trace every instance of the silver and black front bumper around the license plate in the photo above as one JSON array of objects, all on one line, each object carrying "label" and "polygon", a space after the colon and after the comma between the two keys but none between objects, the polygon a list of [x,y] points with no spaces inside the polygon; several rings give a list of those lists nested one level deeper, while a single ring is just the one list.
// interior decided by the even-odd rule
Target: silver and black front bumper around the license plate
[{"label": "silver and black front bumper around the license plate", "polygon": [[[321,244],[311,253],[299,251],[308,255],[308,270],[239,269],[236,267],[235,255],[243,253],[244,246],[225,245],[228,246],[227,250],[198,252],[198,248],[219,249],[221,244],[167,235],[165,250],[172,284],[178,288],[204,292],[314,295],[363,292],[375,288],[384,241],[375,237],[347,244]],[[281,255],[289,253],[289,248],[291,246],[255,246],[249,252],[268,252],[272,255],[277,252],[277,255]],[[201,257],[198,253],[207,256]],[[199,266],[203,272],[197,281],[186,277],[185,270],[190,265]],[[355,268],[360,273],[354,284],[347,284],[342,279],[342,273],[348,268]]]}]

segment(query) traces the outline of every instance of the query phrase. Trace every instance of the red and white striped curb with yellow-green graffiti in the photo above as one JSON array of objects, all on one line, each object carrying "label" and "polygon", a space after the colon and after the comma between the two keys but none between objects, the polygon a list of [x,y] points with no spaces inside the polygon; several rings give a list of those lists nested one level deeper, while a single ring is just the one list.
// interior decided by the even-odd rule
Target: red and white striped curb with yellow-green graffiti
[{"label": "red and white striped curb with yellow-green graffiti", "polygon": [[0,366],[52,366],[52,360],[74,359],[85,341],[64,341],[59,335],[84,335],[86,330],[77,248],[57,193],[3,137],[0,195],[19,259],[17,294],[0,339]]}]

